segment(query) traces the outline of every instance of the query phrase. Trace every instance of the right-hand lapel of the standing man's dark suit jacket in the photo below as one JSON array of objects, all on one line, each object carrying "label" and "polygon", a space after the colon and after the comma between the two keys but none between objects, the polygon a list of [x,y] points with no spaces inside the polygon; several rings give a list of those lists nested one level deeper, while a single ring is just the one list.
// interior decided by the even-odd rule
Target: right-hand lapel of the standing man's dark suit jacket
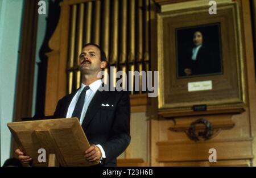
[{"label": "right-hand lapel of the standing man's dark suit jacket", "polygon": [[100,110],[101,104],[104,103],[108,96],[108,91],[100,92],[99,90],[97,90],[97,92],[94,94],[94,97],[92,98],[92,101],[90,101],[90,104],[86,111],[84,121],[82,122],[82,128],[85,129],[89,125],[93,116],[97,113],[98,110]]}]

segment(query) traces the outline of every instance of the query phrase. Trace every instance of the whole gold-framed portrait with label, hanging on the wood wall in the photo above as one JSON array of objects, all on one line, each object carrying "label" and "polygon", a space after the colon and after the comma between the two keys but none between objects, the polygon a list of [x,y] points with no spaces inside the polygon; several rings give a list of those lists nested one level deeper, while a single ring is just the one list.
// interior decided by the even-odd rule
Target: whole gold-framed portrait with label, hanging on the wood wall
[{"label": "whole gold-framed portrait with label, hanging on the wood wall", "polygon": [[245,104],[236,2],[158,14],[159,109]]}]

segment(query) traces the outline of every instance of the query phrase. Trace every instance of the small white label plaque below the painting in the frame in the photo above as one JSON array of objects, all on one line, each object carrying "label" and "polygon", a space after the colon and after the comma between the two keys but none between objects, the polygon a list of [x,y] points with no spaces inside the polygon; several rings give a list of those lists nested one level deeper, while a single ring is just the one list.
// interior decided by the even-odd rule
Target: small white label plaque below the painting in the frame
[{"label": "small white label plaque below the painting in the frame", "polygon": [[196,92],[202,90],[212,90],[212,81],[188,82],[188,92]]}]

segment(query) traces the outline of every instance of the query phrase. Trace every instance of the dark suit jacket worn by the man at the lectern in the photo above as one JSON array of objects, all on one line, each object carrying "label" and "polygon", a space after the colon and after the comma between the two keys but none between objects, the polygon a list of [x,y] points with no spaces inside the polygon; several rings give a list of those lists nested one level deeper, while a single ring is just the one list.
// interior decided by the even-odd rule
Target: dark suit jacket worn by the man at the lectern
[{"label": "dark suit jacket worn by the man at the lectern", "polygon": [[[76,92],[57,103],[55,117],[65,118]],[[110,106],[101,106],[109,104]],[[113,107],[112,107],[113,105]],[[128,92],[97,90],[86,111],[82,129],[91,144],[101,144],[106,154],[105,166],[115,166],[130,143],[130,98]]]}]

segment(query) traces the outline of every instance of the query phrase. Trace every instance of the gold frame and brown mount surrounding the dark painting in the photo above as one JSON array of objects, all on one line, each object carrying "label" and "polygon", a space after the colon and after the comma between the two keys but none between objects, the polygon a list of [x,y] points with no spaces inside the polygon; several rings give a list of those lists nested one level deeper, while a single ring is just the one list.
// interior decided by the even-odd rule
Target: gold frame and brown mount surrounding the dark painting
[{"label": "gold frame and brown mount surrounding the dark painting", "polygon": [[[237,2],[220,3],[217,14],[209,6],[170,10],[158,14],[159,109],[191,109],[245,104],[241,21]],[[166,9],[165,9],[166,10]],[[177,77],[177,29],[220,24],[221,72]],[[194,84],[210,88],[189,90]]]}]

